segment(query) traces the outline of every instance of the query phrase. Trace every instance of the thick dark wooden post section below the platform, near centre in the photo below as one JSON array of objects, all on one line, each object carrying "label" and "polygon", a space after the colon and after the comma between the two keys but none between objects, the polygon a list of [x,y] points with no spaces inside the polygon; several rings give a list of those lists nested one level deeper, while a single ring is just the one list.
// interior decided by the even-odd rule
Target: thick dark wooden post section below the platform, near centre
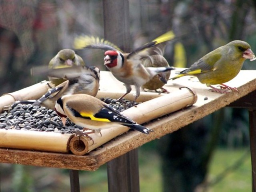
[{"label": "thick dark wooden post section below the platform, near centre", "polygon": [[108,192],[139,192],[138,149],[108,162]]}]

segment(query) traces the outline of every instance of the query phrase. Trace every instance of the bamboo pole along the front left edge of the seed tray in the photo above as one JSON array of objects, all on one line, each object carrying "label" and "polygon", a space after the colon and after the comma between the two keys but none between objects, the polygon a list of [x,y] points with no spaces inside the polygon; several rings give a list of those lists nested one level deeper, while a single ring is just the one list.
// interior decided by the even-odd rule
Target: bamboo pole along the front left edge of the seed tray
[{"label": "bamboo pole along the front left edge of the seed tray", "polygon": [[0,129],[0,147],[49,152],[69,152],[74,134]]}]

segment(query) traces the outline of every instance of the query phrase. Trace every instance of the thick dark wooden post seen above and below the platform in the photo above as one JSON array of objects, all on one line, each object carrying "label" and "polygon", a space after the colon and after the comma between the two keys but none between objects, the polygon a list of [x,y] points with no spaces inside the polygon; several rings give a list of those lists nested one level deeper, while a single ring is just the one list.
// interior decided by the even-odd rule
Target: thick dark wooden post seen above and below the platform
[{"label": "thick dark wooden post seen above and below the platform", "polygon": [[[130,52],[129,1],[104,0],[104,38]],[[138,150],[132,150],[108,162],[109,192],[138,192]]]}]

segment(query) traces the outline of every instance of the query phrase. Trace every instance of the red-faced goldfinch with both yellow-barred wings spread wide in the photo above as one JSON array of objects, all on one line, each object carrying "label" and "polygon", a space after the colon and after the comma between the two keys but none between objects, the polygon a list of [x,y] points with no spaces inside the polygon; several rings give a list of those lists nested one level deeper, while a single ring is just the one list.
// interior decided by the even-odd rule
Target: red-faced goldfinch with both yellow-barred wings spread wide
[{"label": "red-faced goldfinch with both yellow-barred wings spread wide", "polygon": [[[149,42],[130,53],[123,53],[118,47],[113,46],[112,43],[105,40],[100,40],[99,38],[92,38],[91,40],[88,40],[87,37],[86,40],[88,40],[88,42],[84,42],[84,44],[83,38],[76,38],[74,47],[106,50],[104,54],[104,65],[119,81],[123,82],[126,87],[126,93],[118,100],[122,100],[126,94],[130,93],[132,90],[131,85],[134,85],[136,89],[134,101],[136,101],[138,96],[140,96],[140,88],[144,84],[149,82],[152,78],[154,78],[154,76],[174,69],[169,65],[161,67],[148,67],[148,65],[150,65],[148,64],[149,62],[158,63],[158,59],[162,59],[165,46],[161,45],[165,44],[169,40],[172,40],[172,38],[173,34],[171,32],[167,32],[152,42]],[[160,75],[159,79],[164,82],[164,84],[167,82],[167,80],[164,79],[164,76]]]}]

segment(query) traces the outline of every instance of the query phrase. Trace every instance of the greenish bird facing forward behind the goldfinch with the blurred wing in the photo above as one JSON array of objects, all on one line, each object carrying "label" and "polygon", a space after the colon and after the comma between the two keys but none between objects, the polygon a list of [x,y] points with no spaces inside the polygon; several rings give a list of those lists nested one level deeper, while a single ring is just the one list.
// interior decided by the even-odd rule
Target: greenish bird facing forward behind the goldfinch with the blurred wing
[{"label": "greenish bird facing forward behind the goldfinch with the blurred wing", "polygon": [[[48,64],[48,68],[50,69],[65,68],[71,66],[85,66],[83,59],[72,49],[60,50]],[[66,79],[52,77],[49,77],[49,80],[56,86],[66,81]]]}]

